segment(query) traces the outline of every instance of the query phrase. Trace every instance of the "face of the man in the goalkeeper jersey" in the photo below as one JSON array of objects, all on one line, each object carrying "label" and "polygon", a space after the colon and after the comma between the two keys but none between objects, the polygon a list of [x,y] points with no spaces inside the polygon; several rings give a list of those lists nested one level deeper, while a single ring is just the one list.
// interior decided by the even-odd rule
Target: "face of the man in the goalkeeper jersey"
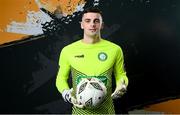
[{"label": "face of the man in the goalkeeper jersey", "polygon": [[82,17],[81,28],[84,34],[90,37],[100,35],[102,28],[102,17],[99,13],[85,13]]}]

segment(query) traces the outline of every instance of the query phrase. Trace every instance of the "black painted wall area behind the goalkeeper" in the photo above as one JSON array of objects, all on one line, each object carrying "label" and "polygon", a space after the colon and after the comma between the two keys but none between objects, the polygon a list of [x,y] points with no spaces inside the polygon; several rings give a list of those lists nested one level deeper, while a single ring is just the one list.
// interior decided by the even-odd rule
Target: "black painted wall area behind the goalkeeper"
[{"label": "black painted wall area behind the goalkeeper", "polygon": [[[89,0],[85,8],[92,6]],[[142,108],[180,95],[180,3],[178,0],[101,0],[102,36],[124,51],[128,92],[116,112]],[[0,48],[0,113],[71,113],[56,89],[61,49],[82,37],[79,13],[55,19],[44,34]],[[54,29],[48,29],[52,27]],[[35,40],[36,39],[36,40]]]}]

